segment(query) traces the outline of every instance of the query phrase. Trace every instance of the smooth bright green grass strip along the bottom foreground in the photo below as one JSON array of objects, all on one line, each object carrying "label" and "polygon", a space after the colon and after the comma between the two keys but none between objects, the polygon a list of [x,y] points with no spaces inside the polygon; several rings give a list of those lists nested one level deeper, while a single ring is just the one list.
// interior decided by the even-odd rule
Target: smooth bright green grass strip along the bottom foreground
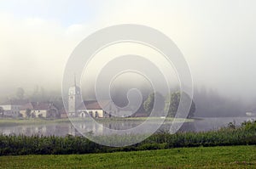
[{"label": "smooth bright green grass strip along the bottom foreground", "polygon": [[256,146],[0,156],[0,168],[256,168]]}]

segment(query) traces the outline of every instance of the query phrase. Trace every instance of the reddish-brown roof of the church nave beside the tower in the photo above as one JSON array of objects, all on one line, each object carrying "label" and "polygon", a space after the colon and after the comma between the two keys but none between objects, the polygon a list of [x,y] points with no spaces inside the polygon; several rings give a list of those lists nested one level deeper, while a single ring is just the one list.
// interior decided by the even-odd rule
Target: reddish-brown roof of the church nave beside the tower
[{"label": "reddish-brown roof of the church nave beside the tower", "polygon": [[[110,101],[108,101],[108,100],[104,100],[104,101],[100,101],[100,102],[97,102],[95,100],[84,101],[82,104],[80,104],[79,110],[84,110],[85,108],[86,108],[86,110],[102,110],[101,105],[104,108],[108,104],[110,104]],[[85,108],[84,108],[84,106],[85,106]]]}]

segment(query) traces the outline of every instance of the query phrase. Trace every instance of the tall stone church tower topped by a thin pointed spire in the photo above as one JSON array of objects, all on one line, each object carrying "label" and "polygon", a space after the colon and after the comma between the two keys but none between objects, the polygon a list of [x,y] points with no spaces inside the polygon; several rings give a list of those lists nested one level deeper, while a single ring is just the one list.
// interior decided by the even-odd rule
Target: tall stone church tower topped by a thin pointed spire
[{"label": "tall stone church tower topped by a thin pointed spire", "polygon": [[76,84],[76,77],[74,76],[73,87],[70,87],[68,90],[68,115],[77,116],[78,108],[81,104],[81,93],[80,87]]}]

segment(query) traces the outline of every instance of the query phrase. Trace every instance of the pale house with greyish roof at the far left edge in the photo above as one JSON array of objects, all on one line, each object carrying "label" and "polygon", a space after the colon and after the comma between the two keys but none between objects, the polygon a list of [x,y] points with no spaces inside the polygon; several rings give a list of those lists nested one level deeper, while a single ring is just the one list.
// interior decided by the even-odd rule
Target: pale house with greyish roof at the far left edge
[{"label": "pale house with greyish roof at the far left edge", "polygon": [[26,104],[26,100],[9,100],[0,104],[0,107],[3,108],[3,116],[5,117],[19,117],[20,108],[23,104]]}]

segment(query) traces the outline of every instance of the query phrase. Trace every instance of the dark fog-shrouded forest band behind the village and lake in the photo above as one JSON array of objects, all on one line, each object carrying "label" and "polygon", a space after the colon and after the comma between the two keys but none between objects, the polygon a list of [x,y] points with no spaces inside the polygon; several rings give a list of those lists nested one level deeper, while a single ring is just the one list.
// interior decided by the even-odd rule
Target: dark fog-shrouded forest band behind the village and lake
[{"label": "dark fog-shrouded forest band behind the village and lake", "polygon": [[[125,89],[124,89],[125,88]],[[111,93],[111,98],[113,99],[114,104],[117,104],[120,107],[128,104],[128,99],[126,97],[129,88],[131,87],[119,87]],[[139,90],[143,96],[143,104],[137,110],[137,113],[149,112],[153,108],[154,94],[152,90],[147,87],[140,87]],[[177,90],[177,89],[176,89]],[[176,91],[172,90],[172,92]],[[92,91],[93,93],[93,91]],[[150,94],[151,93],[151,94]],[[156,94],[159,100],[164,100],[160,102],[168,102],[172,98],[171,107],[169,107],[169,115],[173,116],[173,112],[176,112],[177,104],[179,100],[179,95],[172,93],[170,96],[161,96],[160,93]],[[88,96],[86,95],[86,97]],[[91,99],[94,99],[93,95],[90,96]],[[35,86],[31,91],[26,91],[22,87],[18,87],[13,95],[9,98],[12,100],[23,99],[35,102],[53,102],[58,108],[63,107],[61,90],[48,91],[44,87]],[[1,100],[5,102],[7,100]],[[195,102],[195,103],[194,103]],[[256,112],[256,100],[252,100],[252,103],[248,104],[243,102],[241,99],[224,97],[223,94],[219,94],[217,90],[207,89],[207,87],[197,88],[195,87],[193,103],[191,106],[191,111],[189,116],[199,116],[199,117],[216,117],[216,116],[244,116],[247,111]],[[254,104],[253,104],[254,103]],[[160,104],[160,103],[159,103]],[[194,109],[196,105],[196,110]],[[159,105],[162,107],[162,104]],[[194,111],[195,110],[195,111]],[[192,113],[194,111],[194,113]]]}]

